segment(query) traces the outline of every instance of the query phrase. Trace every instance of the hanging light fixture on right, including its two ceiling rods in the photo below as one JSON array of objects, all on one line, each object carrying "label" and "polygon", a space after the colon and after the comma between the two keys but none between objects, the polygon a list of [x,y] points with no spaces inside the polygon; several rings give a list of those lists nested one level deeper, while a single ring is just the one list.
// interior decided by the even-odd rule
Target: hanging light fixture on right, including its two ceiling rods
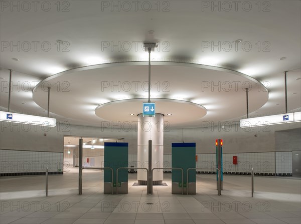
[{"label": "hanging light fixture on right, including its two ceiling rods", "polygon": [[277,114],[264,117],[249,118],[249,107],[248,107],[248,89],[247,93],[247,119],[240,120],[241,128],[249,128],[256,126],[265,126],[272,124],[283,124],[301,121],[301,112],[287,113],[287,89],[286,89],[286,72],[284,72],[284,85],[285,85],[285,114]]}]

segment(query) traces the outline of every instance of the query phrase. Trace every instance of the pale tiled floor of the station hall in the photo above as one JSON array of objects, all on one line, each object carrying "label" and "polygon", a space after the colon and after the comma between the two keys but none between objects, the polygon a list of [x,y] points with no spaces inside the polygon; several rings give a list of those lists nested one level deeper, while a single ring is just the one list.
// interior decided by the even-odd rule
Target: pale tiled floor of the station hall
[{"label": "pale tiled floor of the station hall", "polygon": [[[128,194],[103,194],[103,173],[84,170],[83,194],[78,195],[78,174],[1,178],[0,223],[301,223],[301,180],[256,177],[251,197],[250,176],[224,175],[217,195],[215,175],[197,175],[197,194],[171,194],[168,186],[132,186]],[[150,204],[152,203],[152,204]]]}]

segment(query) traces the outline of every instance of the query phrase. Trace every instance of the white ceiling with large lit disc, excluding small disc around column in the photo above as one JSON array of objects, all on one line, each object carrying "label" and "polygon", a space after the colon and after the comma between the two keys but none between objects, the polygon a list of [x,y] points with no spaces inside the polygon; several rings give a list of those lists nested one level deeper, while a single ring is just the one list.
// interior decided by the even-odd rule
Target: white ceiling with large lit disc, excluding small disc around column
[{"label": "white ceiling with large lit disc, excluding small disc around column", "polygon": [[[102,2],[69,1],[69,12],[57,12],[55,5],[49,12],[41,8],[36,12],[12,12],[10,8],[0,12],[2,47],[4,43],[24,43],[19,51],[16,47],[8,47],[0,52],[0,106],[3,110],[8,107],[8,69],[13,70],[13,84],[20,86],[19,90],[17,87],[13,88],[12,111],[45,116],[47,94],[44,92],[38,95],[29,91],[38,81],[78,67],[116,63],[105,68],[86,68],[76,74],[72,70],[65,72],[59,79],[51,78],[52,81],[60,81],[60,90],[64,87],[64,82],[70,84],[71,91],[63,93],[55,92],[55,88],[51,89],[50,115],[59,121],[72,124],[99,126],[99,121],[105,119],[95,115],[95,108],[101,103],[123,98],[124,95],[128,97],[129,94],[113,91],[111,98],[108,97],[110,92],[101,91],[100,79],[120,82],[147,81],[147,63],[137,62],[147,60],[147,53],[141,49],[144,41],[157,42],[160,47],[152,53],[152,60],[158,62],[153,63],[152,83],[160,81],[162,85],[162,82],[168,81],[171,90],[167,94],[169,98],[199,100],[197,103],[207,110],[203,120],[218,122],[244,117],[245,92],[234,91],[231,92],[232,95],[228,95],[230,93],[211,91],[210,103],[214,109],[202,101],[208,98],[203,96],[210,91],[200,91],[200,82],[233,82],[248,78],[233,74],[230,76],[229,71],[208,70],[209,68],[193,67],[191,64],[171,66],[167,62],[214,65],[238,71],[260,81],[267,87],[269,94],[267,96],[266,92],[259,91],[256,96],[252,96],[252,92],[250,93],[250,116],[284,112],[283,72],[288,71],[288,110],[300,110],[300,1],[265,1],[270,5],[261,5],[259,12],[255,2],[251,2],[252,9],[249,12],[241,6],[237,12],[234,8],[230,12],[223,9],[219,12],[217,8],[213,11],[210,8],[202,9],[204,1],[169,1],[169,12],[162,12],[164,6],[167,6],[163,6],[163,2],[160,12],[155,10],[155,4],[150,12],[125,12],[122,9],[118,12],[116,9],[112,11],[107,8],[102,11]],[[266,6],[269,12],[263,12]],[[149,30],[155,33],[148,34]],[[242,43],[250,43],[252,49],[246,51],[242,49],[242,44],[237,44],[236,50],[233,41],[237,39],[241,39]],[[69,52],[61,49],[58,51],[56,40],[65,41],[64,46],[69,45]],[[33,43],[45,41],[51,44],[51,49],[43,51],[38,43],[35,51]],[[26,42],[30,42],[32,46],[28,52],[25,51]],[[116,45],[118,42],[120,49],[102,48],[104,44]],[[204,48],[205,44],[216,45],[219,42],[222,47],[220,50]],[[129,51],[128,43],[132,47]],[[137,43],[137,49],[134,43]],[[232,43],[232,50],[227,51],[227,43]],[[244,46],[247,48],[247,45]],[[286,59],[279,60],[281,57]],[[18,58],[19,61],[12,58]],[[127,64],[121,65],[120,62]],[[254,84],[256,80],[253,80]],[[184,121],[175,127],[199,125],[200,123]]]}]

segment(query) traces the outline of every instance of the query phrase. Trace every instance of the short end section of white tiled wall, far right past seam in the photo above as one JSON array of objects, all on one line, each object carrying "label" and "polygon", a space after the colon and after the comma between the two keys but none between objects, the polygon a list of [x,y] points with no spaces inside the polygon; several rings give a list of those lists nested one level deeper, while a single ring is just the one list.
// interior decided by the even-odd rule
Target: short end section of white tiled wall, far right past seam
[{"label": "short end section of white tiled wall, far right past seam", "polygon": [[276,152],[276,173],[291,173],[292,160],[291,152]]}]

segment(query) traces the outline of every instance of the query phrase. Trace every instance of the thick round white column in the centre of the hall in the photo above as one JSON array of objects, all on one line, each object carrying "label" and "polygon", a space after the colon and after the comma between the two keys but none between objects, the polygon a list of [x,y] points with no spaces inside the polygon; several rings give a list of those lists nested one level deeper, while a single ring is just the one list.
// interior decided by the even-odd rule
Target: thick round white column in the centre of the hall
[{"label": "thick round white column in the centre of the hall", "polygon": [[[152,140],[152,167],[163,168],[163,128],[164,115],[157,114],[155,117],[143,117],[138,114],[138,167],[148,168],[148,140]],[[151,170],[149,170],[151,171]],[[137,170],[138,184],[146,185],[146,170]],[[162,184],[163,169],[155,169],[153,184]]]}]

